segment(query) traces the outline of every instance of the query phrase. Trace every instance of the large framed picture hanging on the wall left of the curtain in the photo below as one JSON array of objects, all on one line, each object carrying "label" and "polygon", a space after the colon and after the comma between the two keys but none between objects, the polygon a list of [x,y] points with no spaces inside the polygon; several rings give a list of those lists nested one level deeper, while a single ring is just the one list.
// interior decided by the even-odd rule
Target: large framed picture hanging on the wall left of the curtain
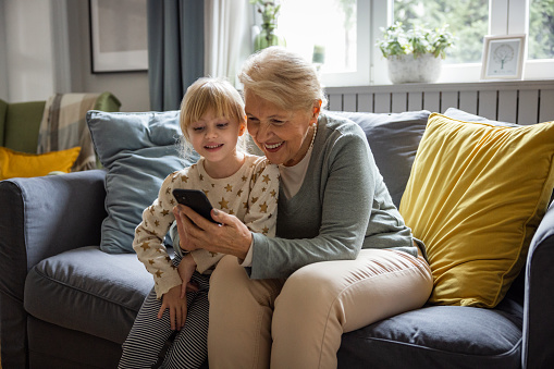
[{"label": "large framed picture hanging on the wall left of the curtain", "polygon": [[146,0],[89,0],[93,73],[148,70]]}]

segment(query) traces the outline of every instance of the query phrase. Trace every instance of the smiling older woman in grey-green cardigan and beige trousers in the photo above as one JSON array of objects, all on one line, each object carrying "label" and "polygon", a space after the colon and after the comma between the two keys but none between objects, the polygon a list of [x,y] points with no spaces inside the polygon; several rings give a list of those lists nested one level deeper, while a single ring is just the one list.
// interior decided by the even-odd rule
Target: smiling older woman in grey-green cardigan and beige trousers
[{"label": "smiling older woman in grey-green cardigan and beige trousers", "polygon": [[248,132],[280,168],[276,237],[222,211],[212,212],[219,226],[175,208],[182,248],[227,254],[211,276],[210,368],[336,368],[342,333],[426,303],[424,245],[361,128],[321,111],[308,62],[268,48],[239,79]]}]

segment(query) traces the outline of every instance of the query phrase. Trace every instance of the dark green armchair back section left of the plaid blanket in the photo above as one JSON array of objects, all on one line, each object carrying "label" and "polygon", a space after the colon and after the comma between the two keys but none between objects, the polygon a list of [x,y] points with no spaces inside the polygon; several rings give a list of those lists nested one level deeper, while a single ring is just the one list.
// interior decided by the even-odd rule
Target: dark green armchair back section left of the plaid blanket
[{"label": "dark green armchair back section left of the plaid blanket", "polygon": [[15,102],[8,106],[3,146],[20,152],[37,152],[38,128],[46,101]]}]

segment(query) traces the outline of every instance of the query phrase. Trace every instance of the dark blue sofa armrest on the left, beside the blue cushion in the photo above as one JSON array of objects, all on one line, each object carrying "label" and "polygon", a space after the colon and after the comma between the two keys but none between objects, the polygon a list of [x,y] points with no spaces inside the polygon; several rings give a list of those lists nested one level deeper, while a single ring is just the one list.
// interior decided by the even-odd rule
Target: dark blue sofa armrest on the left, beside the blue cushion
[{"label": "dark blue sofa armrest on the left, beside the blue cushion", "polygon": [[2,366],[26,367],[27,272],[40,260],[100,243],[106,218],[102,170],[0,182]]}]

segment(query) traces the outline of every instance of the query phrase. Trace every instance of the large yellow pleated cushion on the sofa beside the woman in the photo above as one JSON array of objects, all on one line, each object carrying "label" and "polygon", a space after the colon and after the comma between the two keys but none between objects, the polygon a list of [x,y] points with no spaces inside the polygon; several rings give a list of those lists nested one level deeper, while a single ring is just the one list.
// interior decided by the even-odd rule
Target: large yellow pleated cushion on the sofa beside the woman
[{"label": "large yellow pleated cushion on the sofa beside the woman", "polygon": [[502,300],[552,195],[553,153],[554,122],[500,127],[431,114],[399,208],[427,245],[431,303]]}]

